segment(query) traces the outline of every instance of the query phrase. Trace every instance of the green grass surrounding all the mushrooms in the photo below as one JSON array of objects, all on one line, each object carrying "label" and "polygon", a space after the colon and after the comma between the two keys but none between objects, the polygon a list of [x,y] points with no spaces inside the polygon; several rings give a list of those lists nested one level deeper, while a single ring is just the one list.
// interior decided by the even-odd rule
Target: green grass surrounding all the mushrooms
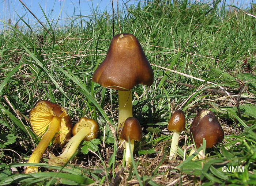
[{"label": "green grass surrounding all the mushrooms", "polygon": [[[220,1],[139,2],[120,11],[119,22],[114,20],[114,32],[120,24],[121,32],[136,35],[155,74],[153,86],[133,89],[133,116],[144,137],[135,146],[132,167],[123,171],[118,171],[123,155],[114,132],[117,93],[91,81],[112,39],[112,16],[95,10],[89,20],[81,18],[82,26],[71,22],[53,29],[45,24],[48,31],[9,25],[0,36],[0,185],[255,184],[255,18],[218,5]],[[82,143],[64,167],[49,166],[45,154],[44,163],[37,164],[42,172],[32,176],[23,174],[29,165],[24,162],[39,139],[28,116],[39,100],[61,104],[74,123],[83,116],[98,120],[100,134],[95,143]],[[188,131],[200,108],[216,114],[225,139],[207,149],[206,159],[192,161]],[[188,122],[178,157],[171,161],[172,133],[166,127],[177,109]],[[62,149],[48,147],[56,155]],[[224,166],[244,171],[225,172]],[[115,180],[118,176],[123,179]]]}]

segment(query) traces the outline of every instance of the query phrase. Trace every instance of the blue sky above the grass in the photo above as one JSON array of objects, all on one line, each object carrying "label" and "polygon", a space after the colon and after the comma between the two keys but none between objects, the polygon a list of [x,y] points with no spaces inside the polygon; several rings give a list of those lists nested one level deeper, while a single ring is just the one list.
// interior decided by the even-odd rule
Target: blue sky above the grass
[{"label": "blue sky above the grass", "polygon": [[[22,2],[41,22],[44,22],[45,18],[40,6],[49,20],[57,19],[59,15],[61,20],[67,20],[69,17],[79,15],[80,12],[81,15],[91,15],[92,9],[97,6],[101,11],[112,11],[111,0],[80,0],[80,3],[79,0],[22,0]],[[126,4],[135,4],[138,3],[138,0],[118,0],[119,9],[124,6],[124,2]],[[226,0],[226,3],[246,8],[250,3],[256,3],[256,0]],[[114,0],[114,9],[117,9],[117,0]],[[19,16],[25,15],[23,19],[30,25],[36,23],[33,16],[23,7],[19,0],[0,0],[0,20],[5,22],[10,20],[11,24],[14,25],[19,19],[17,13]],[[2,26],[3,23],[0,22],[0,28]]]}]

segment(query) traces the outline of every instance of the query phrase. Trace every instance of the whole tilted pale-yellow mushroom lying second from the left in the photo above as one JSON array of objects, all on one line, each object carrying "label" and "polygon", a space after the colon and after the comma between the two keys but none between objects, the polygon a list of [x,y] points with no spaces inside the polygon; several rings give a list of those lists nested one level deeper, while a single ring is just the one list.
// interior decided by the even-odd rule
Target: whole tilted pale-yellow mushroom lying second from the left
[{"label": "whole tilted pale-yellow mushroom lying second from the left", "polygon": [[73,137],[67,143],[65,150],[59,156],[49,153],[48,164],[53,166],[63,166],[75,154],[82,140],[90,141],[97,138],[99,131],[98,123],[86,117],[80,118],[72,129]]}]

